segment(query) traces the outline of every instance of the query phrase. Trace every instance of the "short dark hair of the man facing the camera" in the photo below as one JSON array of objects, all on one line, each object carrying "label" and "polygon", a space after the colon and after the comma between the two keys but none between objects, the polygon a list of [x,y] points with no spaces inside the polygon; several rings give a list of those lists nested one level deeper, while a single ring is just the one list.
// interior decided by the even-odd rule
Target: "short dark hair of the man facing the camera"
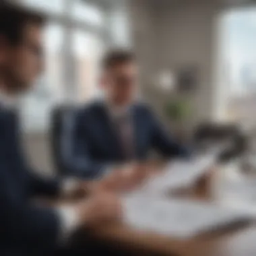
[{"label": "short dark hair of the man facing the camera", "polygon": [[129,62],[135,61],[135,54],[129,50],[115,49],[108,51],[102,60],[102,68],[108,69]]}]

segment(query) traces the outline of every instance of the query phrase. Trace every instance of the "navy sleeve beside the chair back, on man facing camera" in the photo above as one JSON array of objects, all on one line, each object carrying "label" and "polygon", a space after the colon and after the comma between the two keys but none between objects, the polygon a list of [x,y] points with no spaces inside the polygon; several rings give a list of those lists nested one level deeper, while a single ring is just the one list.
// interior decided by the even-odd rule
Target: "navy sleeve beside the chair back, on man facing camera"
[{"label": "navy sleeve beside the chair back, on man facing camera", "polygon": [[69,174],[83,179],[97,179],[110,170],[110,164],[92,159],[83,123],[79,112],[64,120],[61,158]]}]

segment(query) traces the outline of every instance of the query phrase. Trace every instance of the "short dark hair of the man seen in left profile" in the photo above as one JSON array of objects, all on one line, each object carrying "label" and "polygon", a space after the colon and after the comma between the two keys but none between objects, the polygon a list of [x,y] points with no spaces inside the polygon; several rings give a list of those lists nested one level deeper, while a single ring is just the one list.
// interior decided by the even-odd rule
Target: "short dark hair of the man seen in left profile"
[{"label": "short dark hair of the man seen in left profile", "polygon": [[11,44],[18,44],[26,24],[43,26],[46,17],[39,12],[30,11],[18,4],[0,3],[0,36]]}]

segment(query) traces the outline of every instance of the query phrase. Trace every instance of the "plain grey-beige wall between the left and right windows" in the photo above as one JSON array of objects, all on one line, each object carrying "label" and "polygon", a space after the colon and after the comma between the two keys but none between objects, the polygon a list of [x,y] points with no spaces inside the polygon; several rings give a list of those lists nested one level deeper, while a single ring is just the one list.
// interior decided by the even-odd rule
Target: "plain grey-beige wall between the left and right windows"
[{"label": "plain grey-beige wall between the left and right windows", "polygon": [[[135,18],[135,49],[141,58],[141,84],[147,98],[161,112],[162,102],[169,97],[157,88],[156,77],[162,69],[177,70],[184,65],[199,69],[195,92],[185,96],[193,105],[191,126],[211,119],[214,108],[214,61],[216,55],[216,18],[220,5],[213,0],[138,1],[131,9]],[[147,23],[144,27],[141,24]],[[146,49],[147,53],[145,53]],[[146,55],[146,56],[145,56]]]}]

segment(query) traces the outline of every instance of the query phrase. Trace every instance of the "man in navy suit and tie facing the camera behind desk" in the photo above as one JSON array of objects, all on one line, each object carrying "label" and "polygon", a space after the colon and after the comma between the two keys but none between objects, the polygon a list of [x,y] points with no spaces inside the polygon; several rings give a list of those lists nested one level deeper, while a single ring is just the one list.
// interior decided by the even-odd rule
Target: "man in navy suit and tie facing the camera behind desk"
[{"label": "man in navy suit and tie facing the camera behind desk", "polygon": [[70,173],[102,177],[118,170],[119,164],[146,160],[152,149],[166,158],[189,155],[152,110],[138,102],[137,72],[135,56],[129,51],[111,51],[104,57],[104,99],[78,110],[63,133],[63,161]]}]

